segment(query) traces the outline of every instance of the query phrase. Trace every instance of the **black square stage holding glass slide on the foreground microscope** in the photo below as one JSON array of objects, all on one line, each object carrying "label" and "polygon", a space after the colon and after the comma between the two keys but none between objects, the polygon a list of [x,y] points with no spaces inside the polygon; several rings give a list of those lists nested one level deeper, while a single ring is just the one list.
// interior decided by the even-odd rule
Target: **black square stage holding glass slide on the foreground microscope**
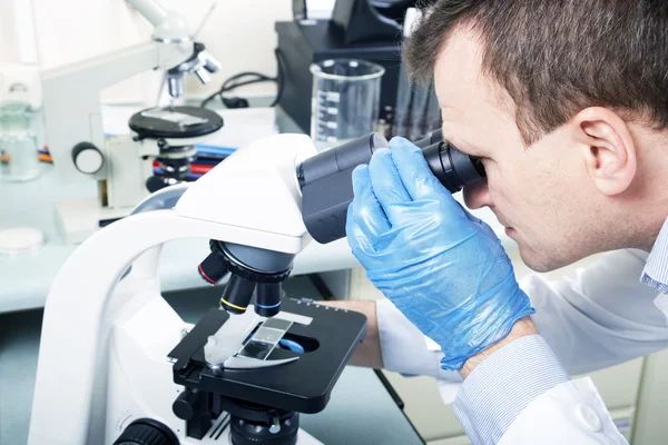
[{"label": "black square stage holding glass slide on the foreground microscope", "polygon": [[[282,308],[284,316],[294,314],[297,317],[292,319],[310,319],[310,323],[266,319],[267,327],[258,325],[237,356],[292,362],[247,369],[209,368],[204,358],[204,346],[230,317],[215,308],[169,354],[176,360],[175,383],[279,409],[297,413],[323,411],[345,364],[366,335],[366,318],[358,313],[320,306],[310,300],[283,299]],[[283,339],[297,343],[305,352],[301,354],[273,347],[281,340],[276,337],[281,330],[272,325],[289,326],[282,334]]]}]

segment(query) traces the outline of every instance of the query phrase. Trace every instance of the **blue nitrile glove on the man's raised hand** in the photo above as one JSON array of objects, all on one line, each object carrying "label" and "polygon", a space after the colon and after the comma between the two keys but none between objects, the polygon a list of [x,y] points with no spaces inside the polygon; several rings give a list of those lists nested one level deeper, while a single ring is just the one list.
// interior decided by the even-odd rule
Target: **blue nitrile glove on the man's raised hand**
[{"label": "blue nitrile glove on the man's raised hand", "polygon": [[418,147],[394,138],[353,172],[346,231],[369,279],[436,342],[444,369],[534,313],[493,230],[439,182]]}]

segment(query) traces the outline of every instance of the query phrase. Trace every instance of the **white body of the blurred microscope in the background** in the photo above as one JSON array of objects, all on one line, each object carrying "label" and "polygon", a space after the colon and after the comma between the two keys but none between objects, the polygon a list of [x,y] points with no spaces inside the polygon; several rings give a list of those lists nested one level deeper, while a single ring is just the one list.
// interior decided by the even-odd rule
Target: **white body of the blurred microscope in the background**
[{"label": "white body of the blurred microscope in the background", "polygon": [[[183,77],[203,82],[218,62],[198,51],[185,20],[154,0],[127,0],[154,26],[151,40],[82,62],[42,72],[46,141],[62,180],[97,180],[98,197],[58,202],[57,221],[67,243],[81,243],[100,221],[129,215],[148,196],[146,180],[159,154],[156,140],[131,135],[105,138],[100,90],[150,70],[167,72],[169,93],[183,95]],[[194,144],[195,141],[191,141]],[[180,140],[179,144],[186,144]]]}]

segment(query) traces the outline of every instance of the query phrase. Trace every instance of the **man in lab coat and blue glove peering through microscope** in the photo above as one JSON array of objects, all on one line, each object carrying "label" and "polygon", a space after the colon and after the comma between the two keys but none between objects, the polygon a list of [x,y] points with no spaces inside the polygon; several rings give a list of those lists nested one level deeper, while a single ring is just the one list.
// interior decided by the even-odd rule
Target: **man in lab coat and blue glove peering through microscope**
[{"label": "man in lab coat and blue glove peering through microscope", "polygon": [[433,76],[444,139],[484,166],[466,206],[490,207],[528,266],[609,253],[520,287],[489,227],[394,139],[354,174],[348,241],[389,301],[345,303],[370,317],[353,363],[461,375],[475,444],[626,443],[569,374],[668,347],[668,3],[445,0],[403,53]]}]

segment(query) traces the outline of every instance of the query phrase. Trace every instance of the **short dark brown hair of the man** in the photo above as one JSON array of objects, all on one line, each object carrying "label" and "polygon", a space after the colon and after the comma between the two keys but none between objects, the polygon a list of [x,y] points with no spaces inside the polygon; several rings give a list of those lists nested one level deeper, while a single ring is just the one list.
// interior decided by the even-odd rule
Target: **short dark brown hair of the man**
[{"label": "short dark brown hair of the man", "polygon": [[409,77],[429,81],[449,34],[469,27],[525,145],[591,106],[668,128],[667,0],[441,0],[426,12],[403,49]]}]

